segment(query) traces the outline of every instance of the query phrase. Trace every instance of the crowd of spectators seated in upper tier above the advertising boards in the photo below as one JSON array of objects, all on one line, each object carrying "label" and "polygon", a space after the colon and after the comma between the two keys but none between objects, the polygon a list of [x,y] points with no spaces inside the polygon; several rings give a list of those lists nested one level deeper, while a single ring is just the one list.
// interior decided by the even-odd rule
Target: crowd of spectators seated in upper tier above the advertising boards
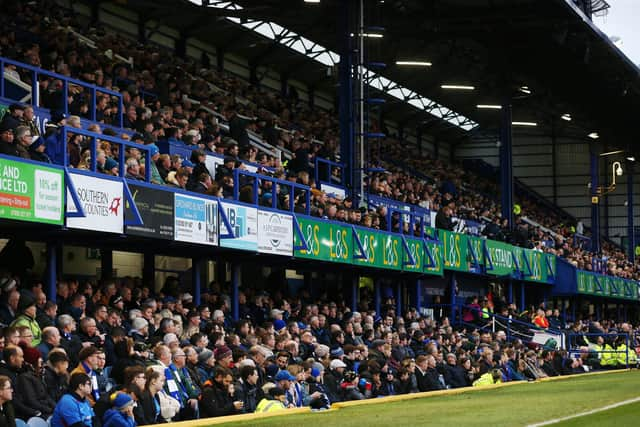
[{"label": "crowd of spectators seated in upper tier above the advertising boards", "polygon": [[[342,199],[319,189],[313,161],[316,156],[336,160],[338,123],[335,114],[301,102],[294,88],[283,96],[212,69],[206,55],[199,61],[166,55],[159,47],[142,45],[101,26],[81,22],[71,11],[54,8],[46,0],[5,1],[3,7],[7,13],[0,17],[6,28],[0,36],[2,56],[122,95],[122,126],[127,131],[103,126],[117,128],[119,105],[117,98],[99,91],[97,123],[89,125],[88,130],[146,145],[151,162],[145,164],[145,150],[128,147],[123,165],[126,170],[119,171],[120,146],[98,140],[95,150],[98,171],[142,180],[148,168],[151,181],[159,185],[227,198],[233,197],[234,187],[239,186],[243,201],[275,204],[280,209],[309,212],[366,227],[418,233],[416,229],[409,230],[409,223],[403,223],[399,214],[388,215],[384,206],[354,206],[351,198]],[[47,14],[43,15],[43,10]],[[79,38],[80,33],[92,40],[93,46]],[[30,73],[18,67],[7,65],[4,72],[30,83]],[[69,85],[70,115],[65,116],[59,112],[62,82],[42,78],[39,85],[41,106],[52,111],[46,131],[41,135],[35,125],[32,107],[12,105],[0,123],[0,152],[62,163],[66,150],[69,166],[90,169],[90,139],[70,133],[67,141],[61,141],[59,131],[62,125],[81,128],[81,118],[91,117],[90,93],[81,86]],[[372,126],[379,127],[377,123]],[[261,152],[250,144],[250,132],[283,153],[291,153],[291,158]],[[192,154],[181,158],[161,153],[156,145],[161,141],[190,147]],[[393,138],[372,141],[369,151],[371,164],[384,167],[386,172],[371,174],[366,182],[367,191],[438,212],[435,224],[438,228],[464,231],[463,227],[456,228],[454,219],[471,220],[481,224],[482,233],[488,238],[553,253],[585,270],[592,270],[594,261],[604,258],[603,272],[640,278],[638,265],[628,262],[624,252],[613,244],[605,242],[602,253],[592,254],[575,244],[575,224],[570,219],[525,196],[517,197],[519,212],[515,224],[509,227],[500,215],[496,182],[460,165],[433,160],[416,147]],[[220,155],[222,165],[210,170],[207,154]],[[258,173],[309,186],[310,205],[307,206],[304,192],[294,192],[294,200],[289,200],[286,184],[274,185],[266,180],[259,185],[259,199],[253,200],[249,185],[252,178],[235,182],[233,172],[235,168],[244,169],[247,162],[256,166]],[[398,163],[403,167],[395,166]],[[415,171],[424,172],[425,176]],[[322,172],[339,175],[340,169]]]}]

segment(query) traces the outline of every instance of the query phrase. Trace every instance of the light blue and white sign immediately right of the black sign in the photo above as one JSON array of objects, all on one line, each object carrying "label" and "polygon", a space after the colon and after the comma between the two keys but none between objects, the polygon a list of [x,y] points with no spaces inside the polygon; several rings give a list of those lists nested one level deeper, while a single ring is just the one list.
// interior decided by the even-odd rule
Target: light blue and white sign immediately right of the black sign
[{"label": "light blue and white sign immediately right of the black sign", "polygon": [[175,239],[218,244],[218,205],[215,200],[175,193]]}]

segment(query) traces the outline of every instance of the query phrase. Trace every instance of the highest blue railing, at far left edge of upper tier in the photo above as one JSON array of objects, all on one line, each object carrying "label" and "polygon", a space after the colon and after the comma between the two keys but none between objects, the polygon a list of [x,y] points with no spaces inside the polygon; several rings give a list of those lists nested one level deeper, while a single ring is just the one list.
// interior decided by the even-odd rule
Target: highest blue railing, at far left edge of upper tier
[{"label": "highest blue railing, at far left edge of upper tier", "polygon": [[[7,89],[7,79],[5,78],[5,66],[13,65],[17,68],[24,69],[29,71],[31,74],[31,99],[30,105],[34,107],[40,107],[40,77],[47,77],[50,79],[56,79],[62,81],[62,105],[60,108],[61,111],[64,111],[65,114],[69,114],[69,85],[75,85],[87,90],[90,99],[89,99],[89,116],[88,119],[92,121],[96,121],[96,100],[98,94],[109,95],[110,97],[117,98],[118,100],[118,113],[116,116],[116,123],[112,123],[115,126],[122,128],[122,112],[123,112],[123,104],[122,104],[122,95],[118,92],[106,89],[104,87],[92,85],[90,83],[85,83],[80,80],[73,79],[71,77],[63,76],[62,74],[52,73],[50,71],[43,70],[41,68],[34,67],[32,65],[24,64],[22,62],[13,61],[11,59],[0,57],[0,98],[10,98],[8,95]],[[20,99],[14,99],[16,102],[19,102]]]}]

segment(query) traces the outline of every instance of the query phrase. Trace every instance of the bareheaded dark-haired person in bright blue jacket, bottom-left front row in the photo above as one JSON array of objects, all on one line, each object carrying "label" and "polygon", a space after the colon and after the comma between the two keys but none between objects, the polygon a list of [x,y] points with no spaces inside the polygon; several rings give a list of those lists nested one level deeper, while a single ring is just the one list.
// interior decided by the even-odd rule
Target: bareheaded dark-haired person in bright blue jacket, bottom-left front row
[{"label": "bareheaded dark-haired person in bright blue jacket, bottom-left front row", "polygon": [[51,427],[93,427],[94,412],[89,404],[91,395],[91,378],[83,373],[71,375],[69,393],[53,410]]}]

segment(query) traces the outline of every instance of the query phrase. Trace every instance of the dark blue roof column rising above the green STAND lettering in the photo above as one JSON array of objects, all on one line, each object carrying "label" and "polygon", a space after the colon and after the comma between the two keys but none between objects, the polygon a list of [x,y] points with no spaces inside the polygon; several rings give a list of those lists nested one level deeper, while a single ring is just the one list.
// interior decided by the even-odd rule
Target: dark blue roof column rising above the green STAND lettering
[{"label": "dark blue roof column rising above the green STAND lettering", "polygon": [[502,194],[502,218],[509,220],[513,229],[513,138],[511,133],[511,99],[502,103],[500,123],[500,191]]}]

